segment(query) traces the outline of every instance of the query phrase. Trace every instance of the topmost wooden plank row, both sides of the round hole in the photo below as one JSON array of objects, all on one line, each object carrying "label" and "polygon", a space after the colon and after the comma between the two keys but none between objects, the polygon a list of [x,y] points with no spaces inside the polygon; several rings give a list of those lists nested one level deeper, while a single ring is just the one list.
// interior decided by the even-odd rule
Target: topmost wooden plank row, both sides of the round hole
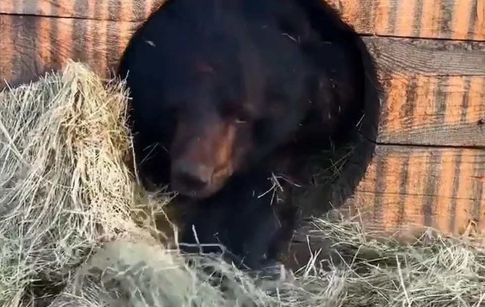
[{"label": "topmost wooden plank row, both sides of the round hole", "polygon": [[[363,34],[485,40],[485,0],[325,0]],[[164,0],[2,0],[0,14],[141,21]]]}]

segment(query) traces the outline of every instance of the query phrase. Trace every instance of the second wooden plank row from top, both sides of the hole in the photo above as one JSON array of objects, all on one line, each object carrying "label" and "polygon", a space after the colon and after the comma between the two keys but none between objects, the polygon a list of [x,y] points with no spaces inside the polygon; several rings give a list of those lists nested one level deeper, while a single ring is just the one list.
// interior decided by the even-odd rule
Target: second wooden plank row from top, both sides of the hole
[{"label": "second wooden plank row from top, both sides of the hole", "polygon": [[[69,58],[107,75],[138,25],[0,15],[0,80],[26,82]],[[485,43],[364,40],[386,91],[379,142],[485,146]]]}]

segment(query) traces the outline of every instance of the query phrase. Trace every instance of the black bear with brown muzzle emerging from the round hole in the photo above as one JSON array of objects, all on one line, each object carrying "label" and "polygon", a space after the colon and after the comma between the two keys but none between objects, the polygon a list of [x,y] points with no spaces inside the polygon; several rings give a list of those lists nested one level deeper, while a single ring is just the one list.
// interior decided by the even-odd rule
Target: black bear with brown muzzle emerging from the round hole
[{"label": "black bear with brown muzzle emerging from the round hole", "polygon": [[293,234],[305,155],[350,134],[364,103],[355,34],[307,3],[168,0],[119,65],[140,178],[179,192],[180,241],[221,243],[252,269]]}]

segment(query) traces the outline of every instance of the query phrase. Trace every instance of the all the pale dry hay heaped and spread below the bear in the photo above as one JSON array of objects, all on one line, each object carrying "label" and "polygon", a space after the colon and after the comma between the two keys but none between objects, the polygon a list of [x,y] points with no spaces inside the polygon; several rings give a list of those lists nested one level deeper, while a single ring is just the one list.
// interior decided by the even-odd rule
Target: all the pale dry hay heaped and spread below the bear
[{"label": "all the pale dry hay heaped and spread below the bear", "polygon": [[[131,152],[123,84],[70,63],[0,93],[2,306],[478,306],[482,251],[434,235],[403,247],[369,240],[358,224],[318,220],[345,260],[310,262],[294,278],[250,277],[220,259],[167,249],[135,223],[161,210],[123,163]],[[139,221],[138,221],[139,222]],[[217,267],[215,283],[203,267]],[[227,290],[230,289],[230,290]]]}]

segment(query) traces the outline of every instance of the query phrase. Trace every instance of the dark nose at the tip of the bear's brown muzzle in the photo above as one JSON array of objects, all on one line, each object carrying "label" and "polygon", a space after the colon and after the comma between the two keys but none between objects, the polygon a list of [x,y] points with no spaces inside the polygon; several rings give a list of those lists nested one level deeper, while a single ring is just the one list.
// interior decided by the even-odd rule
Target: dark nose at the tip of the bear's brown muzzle
[{"label": "dark nose at the tip of the bear's brown muzzle", "polygon": [[213,170],[204,164],[175,162],[172,167],[172,188],[182,194],[197,193],[211,182]]}]

